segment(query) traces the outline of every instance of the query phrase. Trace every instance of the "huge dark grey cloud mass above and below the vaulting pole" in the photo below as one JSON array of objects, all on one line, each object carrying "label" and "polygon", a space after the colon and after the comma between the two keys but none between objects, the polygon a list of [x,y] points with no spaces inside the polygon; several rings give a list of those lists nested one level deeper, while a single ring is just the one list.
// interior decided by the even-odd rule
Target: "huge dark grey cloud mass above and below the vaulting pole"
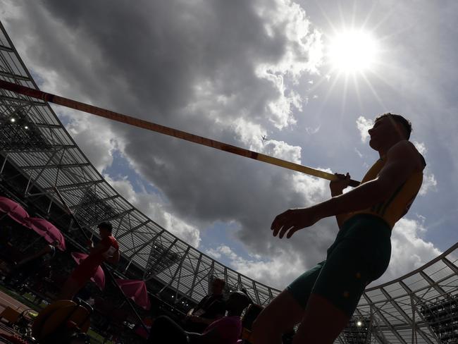
[{"label": "huge dark grey cloud mass above and below the vaulting pole", "polygon": [[[274,130],[278,118],[290,116],[274,116],[268,105],[292,102],[283,79],[307,67],[288,70],[283,62],[291,56],[307,62],[304,41],[313,43],[302,8],[280,0],[42,1],[20,11],[6,19],[12,36],[17,29],[30,37],[27,59],[47,75],[55,73],[63,95],[236,145],[246,142],[237,140],[233,121],[244,118]],[[293,32],[291,23],[307,36]],[[283,65],[276,70],[276,63]],[[260,78],[259,68],[270,79]],[[273,240],[269,228],[287,207],[325,197],[324,183],[306,197],[304,185],[316,182],[302,180],[297,188],[292,173],[281,168],[88,119],[91,125],[75,122],[75,133],[78,125],[88,130],[86,138],[111,132],[130,164],[166,195],[169,210],[181,219],[202,228],[240,223],[238,237],[265,257],[302,254],[304,247],[311,262],[323,256],[330,221],[288,242]],[[89,154],[97,144],[78,143]]]}]

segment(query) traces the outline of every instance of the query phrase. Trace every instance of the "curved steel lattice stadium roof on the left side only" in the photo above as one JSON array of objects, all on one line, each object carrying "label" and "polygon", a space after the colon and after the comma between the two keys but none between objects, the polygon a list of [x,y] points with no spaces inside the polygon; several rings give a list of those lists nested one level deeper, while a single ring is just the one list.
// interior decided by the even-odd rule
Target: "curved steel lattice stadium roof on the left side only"
[{"label": "curved steel lattice stadium roof on the left side only", "polygon": [[[1,26],[0,78],[35,87],[35,81]],[[238,274],[176,238],[121,197],[90,164],[46,102],[0,90],[0,154],[27,178],[25,197],[49,197],[59,205],[54,187],[78,221],[95,230],[111,221],[123,258],[155,278],[174,300],[199,301],[214,277],[230,288],[245,288],[254,302],[265,305],[278,290]],[[3,171],[3,167],[1,168]],[[94,231],[95,232],[95,231]]]}]

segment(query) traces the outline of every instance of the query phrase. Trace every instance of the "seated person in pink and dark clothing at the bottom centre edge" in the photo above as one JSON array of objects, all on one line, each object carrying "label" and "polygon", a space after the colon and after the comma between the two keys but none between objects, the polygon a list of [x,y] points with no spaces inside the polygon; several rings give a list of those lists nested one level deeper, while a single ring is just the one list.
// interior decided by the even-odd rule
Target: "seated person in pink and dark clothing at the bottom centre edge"
[{"label": "seated person in pink and dark clothing at the bottom centre edge", "polygon": [[213,321],[203,333],[187,332],[166,316],[158,317],[151,326],[148,343],[150,344],[235,344],[242,332],[240,315],[251,303],[244,293],[231,293],[225,307],[228,314]]}]

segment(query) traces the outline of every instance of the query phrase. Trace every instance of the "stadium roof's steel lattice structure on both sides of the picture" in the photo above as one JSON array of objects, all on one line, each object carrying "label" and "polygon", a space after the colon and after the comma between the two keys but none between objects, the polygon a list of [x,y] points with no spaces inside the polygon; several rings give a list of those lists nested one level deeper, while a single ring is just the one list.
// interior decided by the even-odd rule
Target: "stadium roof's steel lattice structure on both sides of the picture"
[{"label": "stadium roof's steel lattice structure on both sides of the picture", "polygon": [[[0,78],[37,88],[1,23],[0,29]],[[0,90],[0,155],[0,178],[8,161],[27,180],[25,198],[44,197],[48,211],[63,208],[58,188],[86,228],[95,231],[100,221],[111,221],[123,258],[143,271],[145,281],[154,278],[163,290],[173,290],[175,302],[201,300],[215,277],[247,290],[260,305],[279,293],[216,262],[132,207],[92,166],[47,102]],[[420,269],[366,289],[335,343],[458,343],[457,257],[455,243]]]}]

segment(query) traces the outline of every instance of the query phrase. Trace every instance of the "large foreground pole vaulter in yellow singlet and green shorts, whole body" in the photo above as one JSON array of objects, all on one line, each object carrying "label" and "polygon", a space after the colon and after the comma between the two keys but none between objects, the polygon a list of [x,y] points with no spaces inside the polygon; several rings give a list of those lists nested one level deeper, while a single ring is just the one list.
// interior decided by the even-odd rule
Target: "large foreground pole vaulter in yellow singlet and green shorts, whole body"
[{"label": "large foreground pole vaulter in yellow singlet and green shorts, whole body", "polygon": [[340,231],[318,263],[287,286],[254,322],[254,344],[279,344],[299,324],[294,344],[332,344],[347,325],[366,285],[382,276],[391,254],[391,230],[421,188],[423,156],[409,142],[411,123],[384,113],[369,129],[380,159],[361,185],[345,194],[347,173],[330,183],[332,198],[278,215],[273,236],[287,238],[318,220],[336,216]]}]

